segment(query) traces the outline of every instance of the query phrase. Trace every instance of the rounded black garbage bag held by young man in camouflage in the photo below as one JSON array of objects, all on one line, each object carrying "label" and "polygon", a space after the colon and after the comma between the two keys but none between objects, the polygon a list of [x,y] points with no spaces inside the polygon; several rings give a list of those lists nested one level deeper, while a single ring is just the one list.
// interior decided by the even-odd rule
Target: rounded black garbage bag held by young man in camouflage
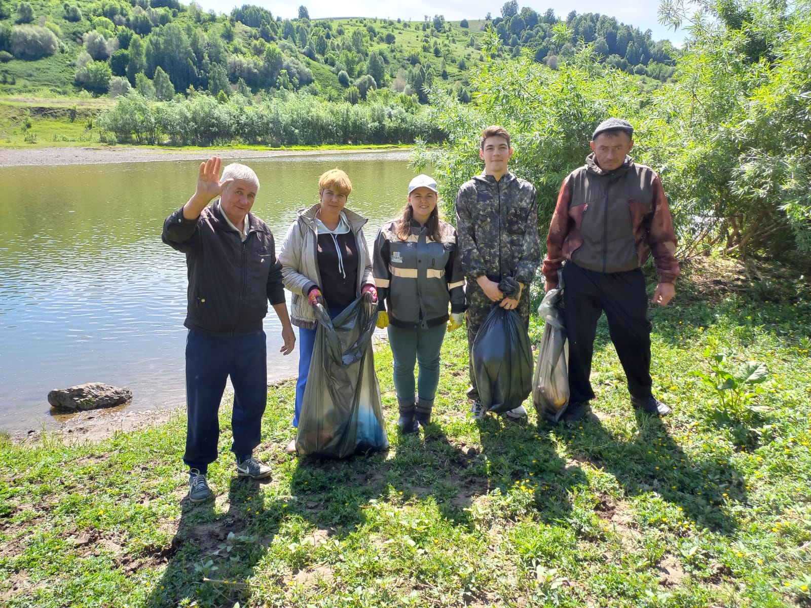
[{"label": "rounded black garbage bag held by young man in camouflage", "polygon": [[530,336],[515,310],[493,306],[470,348],[470,361],[485,411],[508,412],[530,395]]}]

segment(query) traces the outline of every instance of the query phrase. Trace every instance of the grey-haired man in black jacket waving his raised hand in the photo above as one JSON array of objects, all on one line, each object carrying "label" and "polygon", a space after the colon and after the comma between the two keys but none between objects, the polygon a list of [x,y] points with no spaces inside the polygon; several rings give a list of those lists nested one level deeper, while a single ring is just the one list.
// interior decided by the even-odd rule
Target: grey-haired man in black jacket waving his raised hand
[{"label": "grey-haired man in black jacket waving his raised hand", "polygon": [[189,467],[189,499],[194,502],[212,497],[206,474],[217,460],[217,410],[229,377],[234,385],[231,450],[237,473],[253,479],[271,473],[253,456],[268,399],[262,329],[268,300],[281,321],[281,353],[291,353],[295,345],[273,234],[251,213],[259,178],[238,163],[226,166],[219,178],[220,164],[214,156],[200,165],[195,194],[166,218],[162,235],[163,242],[186,254],[188,267],[183,461]]}]

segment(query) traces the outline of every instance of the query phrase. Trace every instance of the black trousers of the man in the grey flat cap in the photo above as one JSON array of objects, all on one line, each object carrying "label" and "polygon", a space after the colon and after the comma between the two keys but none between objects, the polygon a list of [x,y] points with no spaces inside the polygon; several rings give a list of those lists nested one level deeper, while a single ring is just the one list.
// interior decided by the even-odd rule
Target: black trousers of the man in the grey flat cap
[{"label": "black trousers of the man in the grey flat cap", "polygon": [[594,272],[567,262],[563,267],[566,336],[569,338],[569,389],[572,401],[594,399],[591,358],[597,320],[605,312],[608,332],[620,358],[631,396],[652,396],[650,388],[650,321],[645,276],[626,272]]}]

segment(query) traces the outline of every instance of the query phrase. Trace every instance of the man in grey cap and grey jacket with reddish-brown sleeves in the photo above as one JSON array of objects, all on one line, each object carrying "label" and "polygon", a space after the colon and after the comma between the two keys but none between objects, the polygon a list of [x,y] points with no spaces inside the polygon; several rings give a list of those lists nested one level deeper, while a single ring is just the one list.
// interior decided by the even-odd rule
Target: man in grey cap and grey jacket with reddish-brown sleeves
[{"label": "man in grey cap and grey jacket with reddish-brown sleeves", "polygon": [[[597,320],[605,311],[611,342],[628,379],[631,405],[654,416],[671,409],[653,396],[650,321],[642,264],[659,273],[653,301],[667,306],[679,276],[676,233],[662,182],[628,153],[633,127],[609,118],[594,131],[586,165],[564,180],[547,236],[543,276],[549,291],[562,267],[571,397],[564,420],[590,414],[589,376]],[[565,263],[564,263],[565,262]]]}]

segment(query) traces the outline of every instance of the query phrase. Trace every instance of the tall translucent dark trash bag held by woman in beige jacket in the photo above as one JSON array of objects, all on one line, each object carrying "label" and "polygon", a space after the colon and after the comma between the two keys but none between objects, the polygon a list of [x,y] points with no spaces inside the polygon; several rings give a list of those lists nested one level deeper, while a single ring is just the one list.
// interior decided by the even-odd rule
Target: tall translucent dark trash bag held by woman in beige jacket
[{"label": "tall translucent dark trash bag held by woman in beige jacket", "polygon": [[371,334],[377,304],[363,294],[330,319],[315,305],[315,345],[298,418],[301,456],[346,458],[388,448]]}]

